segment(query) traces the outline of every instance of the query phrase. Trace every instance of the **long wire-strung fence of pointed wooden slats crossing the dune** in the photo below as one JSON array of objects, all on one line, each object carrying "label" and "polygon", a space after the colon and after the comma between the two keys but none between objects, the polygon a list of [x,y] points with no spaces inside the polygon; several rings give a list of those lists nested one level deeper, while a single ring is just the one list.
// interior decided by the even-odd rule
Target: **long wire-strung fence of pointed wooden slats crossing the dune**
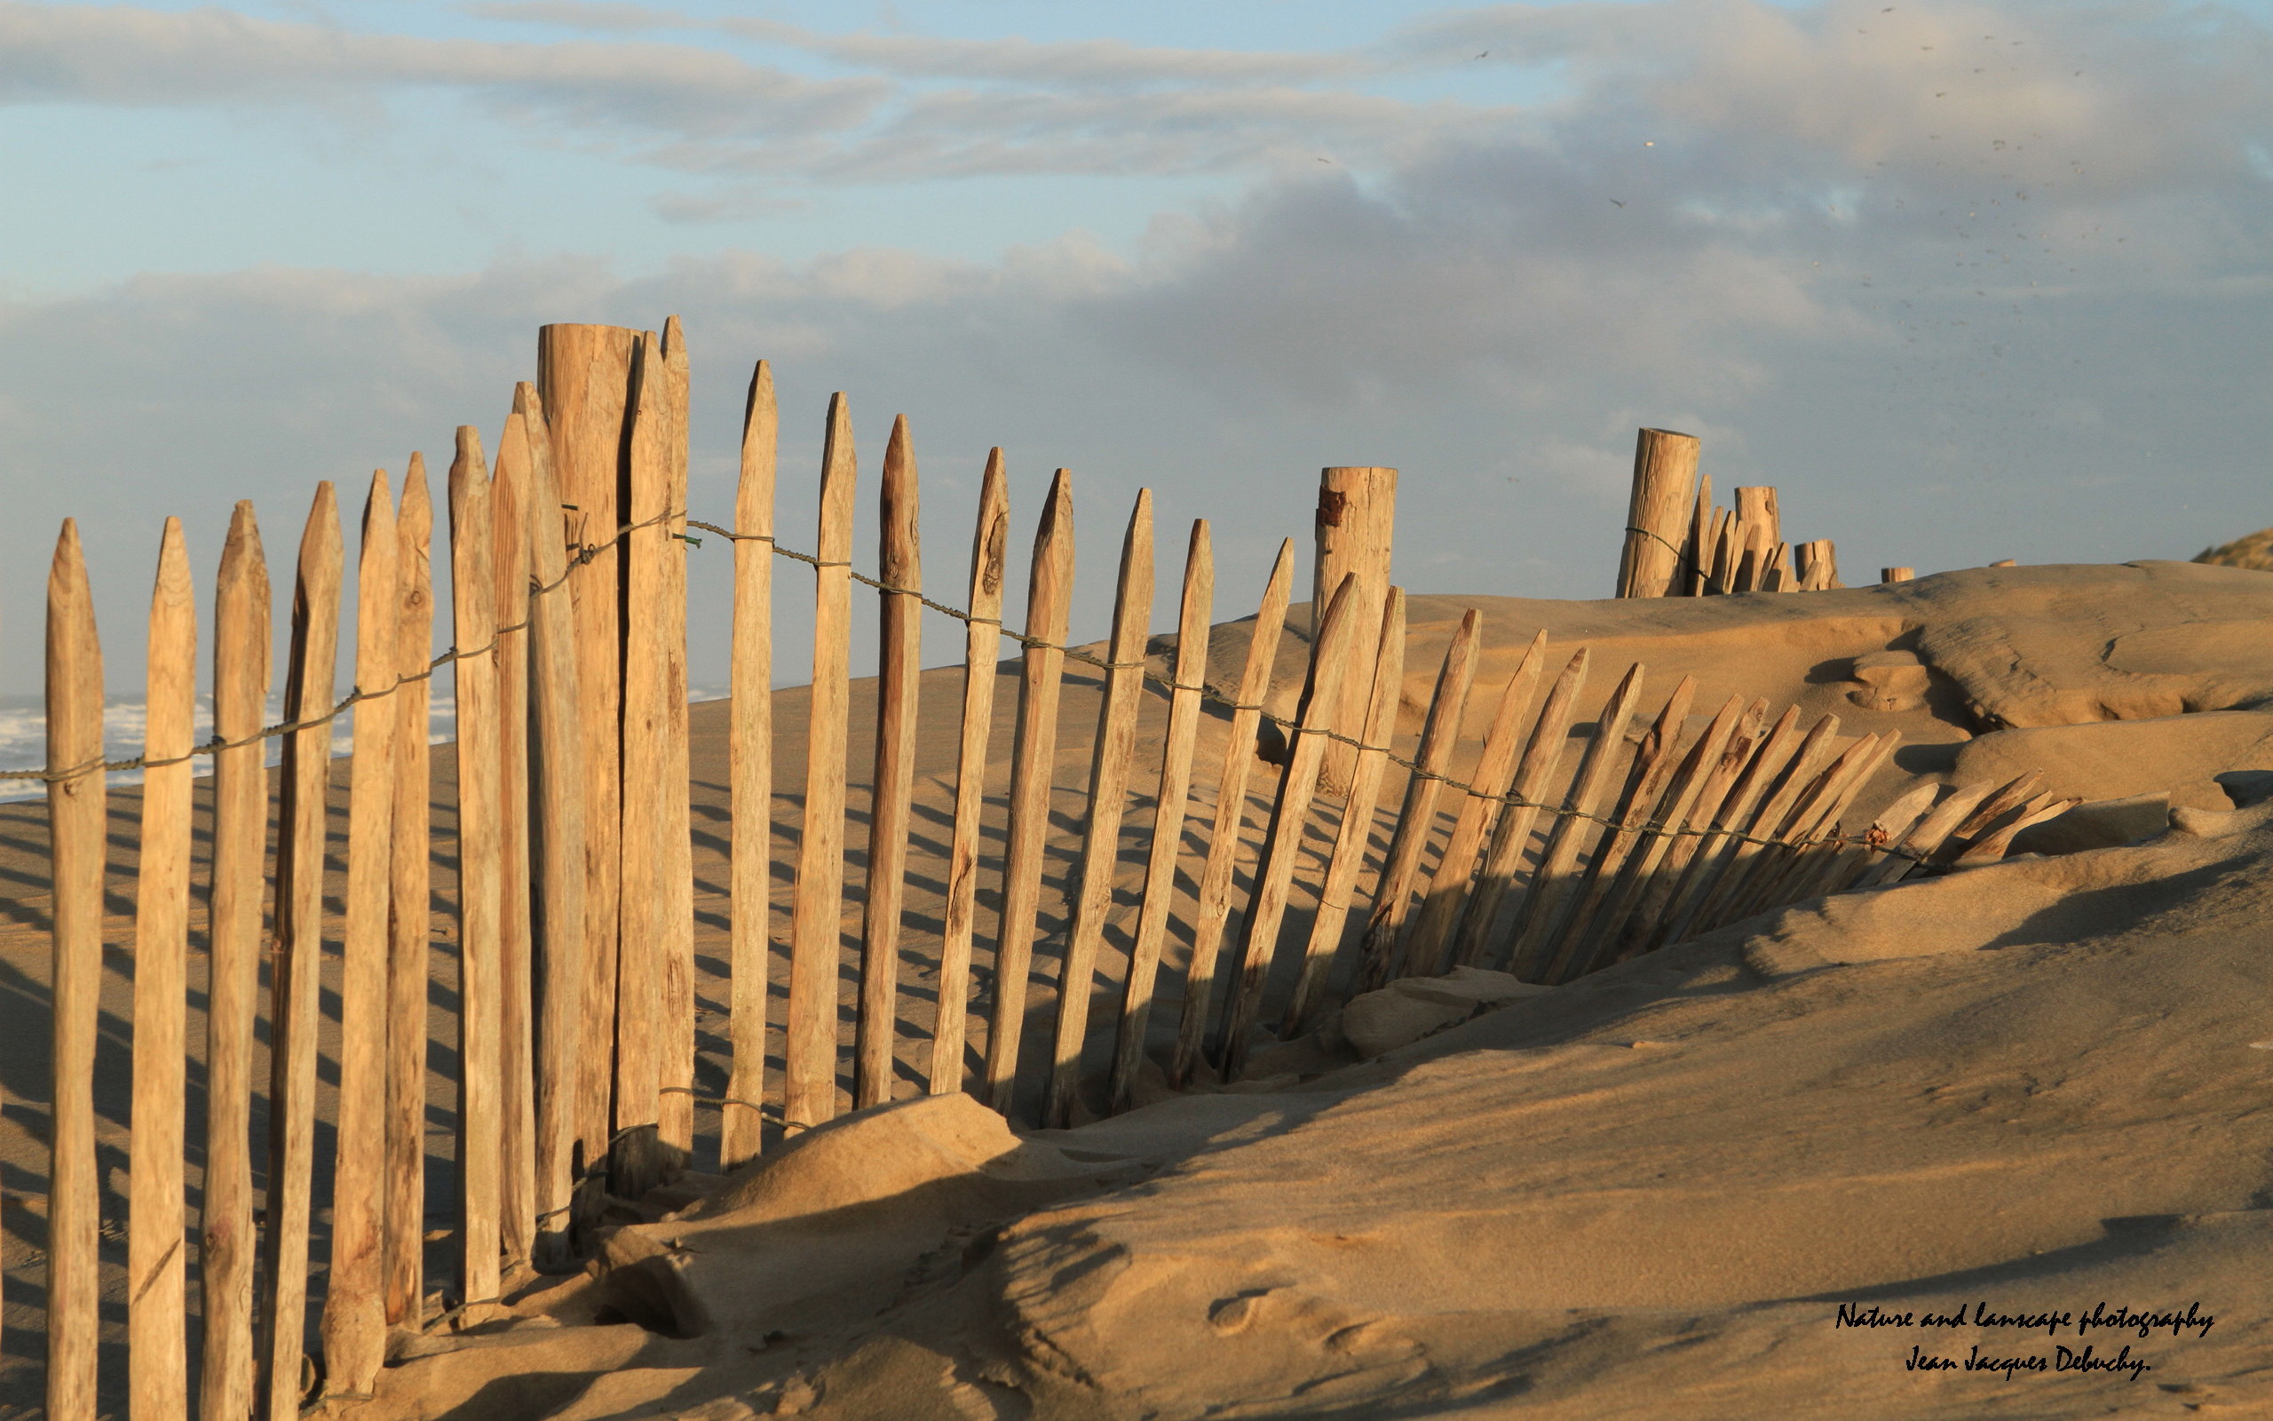
[{"label": "long wire-strung fence of pointed wooden slats crossing the dune", "polygon": [[[843,396],[827,409],[814,552],[775,541],[777,412],[764,362],[750,380],[732,527],[686,516],[686,357],[675,318],[661,334],[546,327],[536,382],[516,387],[493,468],[477,432],[457,432],[443,489],[448,548],[439,552],[448,577],[434,568],[434,507],[421,459],[411,457],[400,496],[384,471],[373,475],[355,548],[355,691],[339,700],[332,668],[345,543],[332,487],[320,484],[293,566],[284,723],[270,728],[259,723],[270,689],[270,582],[252,507],[239,505],[216,580],[214,739],[205,746],[191,743],[195,596],[180,525],[168,521],[148,623],[148,748],[125,764],[102,764],[93,603],[80,534],[64,525],[48,584],[48,768],[34,773],[48,784],[55,873],[45,1296],[52,1421],[91,1419],[98,1396],[93,1050],[105,768],[143,771],[127,1216],[136,1421],[184,1416],[193,1394],[198,1412],[214,1421],[293,1416],[318,1389],[330,1398],[368,1394],[405,1335],[480,1321],[530,1266],[577,1266],[609,1200],[636,1200],[689,1164],[698,1105],[718,1112],[718,1162],[736,1169],[759,1155],[768,1130],[832,1119],[848,1066],[850,1107],[884,1103],[905,1014],[896,973],[907,957],[936,964],[925,1089],[968,1089],[1009,1112],[1032,1098],[1021,1096],[1021,1080],[1039,1080],[1039,1119],[1023,1123],[1066,1125],[1086,1110],[1127,1110],[1148,1062],[1171,1087],[1237,1080],[1259,1041],[1298,1037],[1334,1000],[1400,975],[1487,966],[1568,982],[1764,907],[1891,882],[1921,862],[2000,857],[2014,832],[2059,807],[2032,780],[1959,789],[1939,803],[1939,789],[1925,784],[1864,832],[1846,834],[1841,818],[1893,753],[1893,737],[1841,741],[1837,716],[1800,725],[1798,709],[1771,718],[1764,700],[1743,698],[1691,730],[1691,712],[1705,709],[1691,705],[1696,684],[1682,680],[1650,716],[1639,664],[1623,671],[1573,768],[1589,650],[1550,648],[1541,632],[1505,684],[1477,687],[1477,612],[1466,614],[1446,650],[1418,746],[1398,753],[1405,593],[1387,587],[1393,471],[1327,471],[1321,534],[1339,532],[1321,539],[1316,566],[1321,584],[1332,575],[1334,587],[1314,607],[1307,680],[1296,714],[1282,718],[1264,705],[1291,600],[1291,541],[1262,589],[1239,682],[1218,689],[1205,682],[1214,618],[1205,521],[1187,543],[1173,655],[1155,668],[1148,493],[1125,527],[1111,634],[1089,653],[1066,646],[1073,493],[1064,471],[1034,525],[1025,628],[1014,632],[1000,623],[1002,582],[1011,575],[1000,452],[989,457],[980,487],[964,607],[950,607],[923,596],[918,480],[905,421],[893,425],[882,459],[875,577],[852,568],[857,462]],[[1650,462],[1652,439],[1643,432],[1639,464]],[[1693,466],[1693,448],[1689,457]],[[1698,507],[1709,507],[1709,491]],[[702,532],[727,539],[734,562],[730,807],[743,828],[732,834],[727,871],[723,1098],[696,1089],[686,550]],[[1705,546],[1702,537],[1691,543]],[[1716,534],[1712,546],[1730,539]],[[1757,543],[1743,546],[1746,562],[1755,562]],[[768,830],[782,789],[771,721],[777,557],[811,566],[818,603],[786,1030],[780,1091],[771,1091]],[[1675,546],[1662,562],[1677,557]],[[1677,571],[1650,566],[1643,571],[1652,577]],[[430,662],[441,582],[452,650]],[[846,809],[855,582],[882,600],[882,650],[857,1009],[846,1044],[839,953],[855,823]],[[941,930],[911,934],[902,880],[925,609],[966,625],[966,675]],[[1018,646],[1021,659],[1016,730],[1007,837],[998,855],[986,855],[980,816],[1005,641]],[[1036,962],[1036,944],[1050,941],[1036,923],[1068,659],[1102,673],[1100,721],[1068,889],[1071,928]],[[455,1062],[441,1064],[457,1087],[455,1260],[441,1314],[427,1307],[423,1248],[425,1085],[436,1069],[427,1059],[434,818],[425,728],[427,678],[436,671],[450,673],[457,696],[459,859],[459,1037]],[[1157,764],[1139,764],[1134,753],[1148,696],[1168,703]],[[1471,778],[1457,780],[1450,766],[1459,728],[1477,696],[1493,707],[1489,732]],[[1209,707],[1227,730],[1214,775],[1196,775]],[[339,716],[352,716],[355,755],[343,912],[327,914],[325,805]],[[1275,784],[1250,787],[1259,768],[1271,768],[1255,753],[1264,723],[1284,732],[1287,748]],[[270,737],[284,741],[273,859],[261,768]],[[184,964],[198,755],[214,762],[214,821],[205,1187],[189,1228]],[[1380,844],[1391,766],[1402,773],[1402,800]],[[1252,837],[1250,789],[1268,803]],[[1141,823],[1127,823],[1132,800],[1148,807]],[[1187,839],[1200,825],[1202,848],[1191,848]],[[1305,848],[1314,834],[1330,837],[1330,848]],[[1109,980],[1100,948],[1130,837],[1148,846],[1141,905],[1125,934],[1125,966]],[[1298,882],[1305,862],[1318,869]],[[1175,884],[1187,871],[1193,907],[1189,921],[1175,921]],[[982,882],[996,905],[991,923]],[[1284,932],[1296,898],[1314,905],[1307,932]],[[989,925],[984,1009],[966,1009],[975,948]],[[339,953],[339,1096],[336,1157],[327,1198],[318,1198],[325,939]],[[1187,944],[1180,957],[1168,950],[1173,941]],[[1025,1050],[1027,984],[1041,973],[1055,978],[1055,1023],[1046,1050]],[[1180,987],[1173,1037],[1152,1030],[1164,980]],[[1100,1014],[1091,1012],[1096,991],[1116,994]],[[266,1128],[257,1130],[252,1069],[264,1014],[270,1078]],[[1084,1046],[1100,1032],[1111,1037],[1111,1053],[1102,1080],[1093,1080],[1084,1078]],[[266,1150],[266,1196],[255,1194],[257,1148]],[[307,1353],[309,1264],[325,1207],[330,1262],[316,1366]],[[195,1360],[186,1344],[191,1260],[202,1289]]]}]

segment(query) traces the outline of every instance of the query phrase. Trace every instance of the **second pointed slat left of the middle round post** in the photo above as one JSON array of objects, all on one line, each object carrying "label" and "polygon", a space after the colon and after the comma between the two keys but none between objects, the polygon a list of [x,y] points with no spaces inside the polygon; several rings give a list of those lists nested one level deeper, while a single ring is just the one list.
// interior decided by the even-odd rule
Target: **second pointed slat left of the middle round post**
[{"label": "second pointed slat left of the middle round post", "polygon": [[[1393,593],[1396,596],[1396,593]],[[1207,680],[1209,616],[1216,600],[1216,552],[1207,518],[1193,518],[1184,548],[1184,591],[1175,618],[1175,689],[1168,693],[1168,730],[1159,757],[1159,789],[1152,793],[1152,834],[1146,853],[1143,903],[1130,971],[1121,982],[1121,1021],[1114,1028],[1114,1069],[1105,1085],[1105,1112],[1121,1114],[1136,1100],[1146,1032],[1152,1025],[1152,989],[1159,955],[1168,941],[1175,905],[1175,864],[1184,848],[1184,814],[1191,807],[1191,757],[1200,739],[1200,684]]]}]

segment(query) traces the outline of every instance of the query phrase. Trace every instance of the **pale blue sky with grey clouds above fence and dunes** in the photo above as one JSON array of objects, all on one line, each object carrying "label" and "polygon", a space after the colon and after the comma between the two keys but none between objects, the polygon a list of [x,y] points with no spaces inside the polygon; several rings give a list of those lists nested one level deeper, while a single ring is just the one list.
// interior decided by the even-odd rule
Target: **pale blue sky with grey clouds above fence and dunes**
[{"label": "pale blue sky with grey clouds above fence and dunes", "polygon": [[2273,523],[2268,59],[2153,0],[0,0],[0,693],[61,516],[130,687],[164,514],[286,562],[539,323],[671,311],[698,516],[766,355],[784,468],[909,416],[936,584],[986,446],[1021,525],[1071,466],[1086,634],[1136,487],[1234,616],[1321,464],[1405,471],[1416,591],[1600,596],[1634,425],[1850,582],[2189,557]]}]

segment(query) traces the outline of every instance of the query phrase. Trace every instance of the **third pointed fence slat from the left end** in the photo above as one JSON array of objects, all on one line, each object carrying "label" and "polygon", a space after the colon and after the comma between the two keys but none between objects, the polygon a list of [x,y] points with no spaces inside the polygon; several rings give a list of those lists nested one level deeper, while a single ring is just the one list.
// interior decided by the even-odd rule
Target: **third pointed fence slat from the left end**
[{"label": "third pointed fence slat from the left end", "polygon": [[[400,696],[400,691],[398,691]],[[268,707],[268,564],[252,505],[230,514],[214,580],[214,739],[259,734]],[[268,855],[266,743],[214,753],[214,878],[207,909],[205,1205],[198,1212],[209,1421],[252,1416],[252,1030],[259,1012]]]}]

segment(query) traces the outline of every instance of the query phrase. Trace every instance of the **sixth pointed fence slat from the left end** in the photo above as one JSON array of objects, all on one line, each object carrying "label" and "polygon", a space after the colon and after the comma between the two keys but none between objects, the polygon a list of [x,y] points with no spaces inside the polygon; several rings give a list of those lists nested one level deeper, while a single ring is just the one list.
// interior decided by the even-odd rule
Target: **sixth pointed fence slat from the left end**
[{"label": "sixth pointed fence slat from the left end", "polygon": [[[396,675],[418,680],[402,682],[389,698],[396,755],[386,855],[386,1228],[380,1264],[389,1328],[416,1328],[425,1303],[427,944],[434,919],[427,723],[434,682],[418,673],[434,655],[432,537],[425,457],[414,452],[396,507]],[[261,680],[266,684],[266,664]]]}]

